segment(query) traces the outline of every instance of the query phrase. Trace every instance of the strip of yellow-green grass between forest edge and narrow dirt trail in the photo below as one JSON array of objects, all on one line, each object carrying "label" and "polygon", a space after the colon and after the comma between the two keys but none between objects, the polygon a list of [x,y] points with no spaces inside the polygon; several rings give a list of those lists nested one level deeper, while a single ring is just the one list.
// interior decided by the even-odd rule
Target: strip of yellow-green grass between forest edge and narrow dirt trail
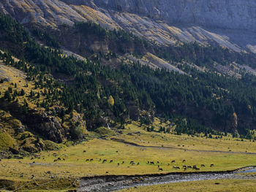
[{"label": "strip of yellow-green grass between forest edge and narrow dirt trail", "polygon": [[[159,130],[160,124],[154,123],[155,129]],[[167,126],[167,124],[162,123],[161,126]],[[146,131],[145,126],[139,125],[138,122],[132,122],[125,126],[126,129],[123,130],[123,134],[117,135],[117,139],[124,139],[127,142],[135,142],[138,145],[145,146],[164,146],[164,147],[178,147],[184,150],[222,150],[226,152],[242,152],[242,153],[256,153],[256,142],[252,142],[244,139],[244,142],[236,138],[222,137],[222,139],[206,139],[203,136],[188,136],[174,135],[174,134],[164,134],[157,132]],[[135,134],[140,131],[140,134]],[[213,136],[214,138],[216,136]]]}]

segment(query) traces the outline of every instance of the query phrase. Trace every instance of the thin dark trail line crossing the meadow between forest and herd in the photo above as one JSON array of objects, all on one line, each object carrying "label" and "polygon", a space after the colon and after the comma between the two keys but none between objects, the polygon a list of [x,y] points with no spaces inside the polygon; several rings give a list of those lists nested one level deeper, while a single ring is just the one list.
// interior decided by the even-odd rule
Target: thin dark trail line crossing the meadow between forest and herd
[{"label": "thin dark trail line crossing the meadow between forest and herd", "polygon": [[111,140],[115,142],[121,142],[127,145],[132,145],[135,147],[145,147],[145,148],[159,148],[159,149],[176,149],[176,150],[187,150],[187,151],[197,151],[197,152],[207,152],[207,153],[235,153],[235,154],[246,154],[246,155],[256,155],[256,153],[247,153],[242,151],[225,151],[225,150],[192,150],[192,149],[186,149],[181,147],[160,147],[160,146],[150,146],[150,145],[138,145],[134,142],[127,142],[124,139],[116,139],[111,138]]}]

